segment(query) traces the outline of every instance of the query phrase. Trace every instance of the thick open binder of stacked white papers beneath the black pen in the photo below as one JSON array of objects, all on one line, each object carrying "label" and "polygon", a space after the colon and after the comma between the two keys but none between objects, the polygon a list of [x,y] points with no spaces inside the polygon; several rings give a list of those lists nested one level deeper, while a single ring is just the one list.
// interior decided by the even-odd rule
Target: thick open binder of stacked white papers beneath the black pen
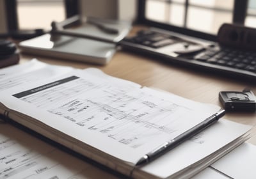
[{"label": "thick open binder of stacked white papers beneath the black pen", "polygon": [[[34,60],[1,72],[17,69],[19,75],[0,79],[1,114],[132,178],[191,177],[243,143],[250,130],[218,122],[153,162],[136,166],[145,153],[220,107],[142,88],[95,68],[77,70]],[[220,128],[225,128],[223,139],[216,138],[223,133],[214,132]]]}]

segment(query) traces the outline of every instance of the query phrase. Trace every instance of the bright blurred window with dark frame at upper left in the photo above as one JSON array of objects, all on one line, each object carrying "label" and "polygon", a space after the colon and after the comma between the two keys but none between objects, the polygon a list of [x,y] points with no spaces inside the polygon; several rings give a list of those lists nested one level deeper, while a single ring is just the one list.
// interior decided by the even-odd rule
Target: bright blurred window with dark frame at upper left
[{"label": "bright blurred window with dark frame at upper left", "polygon": [[61,21],[79,12],[78,0],[5,0],[4,4],[8,31],[49,30],[52,20]]}]

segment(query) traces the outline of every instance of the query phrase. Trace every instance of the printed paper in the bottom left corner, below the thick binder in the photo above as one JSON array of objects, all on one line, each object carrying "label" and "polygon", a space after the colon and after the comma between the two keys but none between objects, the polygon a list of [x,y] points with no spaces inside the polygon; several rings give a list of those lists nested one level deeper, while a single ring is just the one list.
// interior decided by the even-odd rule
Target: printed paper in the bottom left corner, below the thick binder
[{"label": "printed paper in the bottom left corner, below the thick binder", "polygon": [[8,124],[0,125],[0,178],[117,178]]}]

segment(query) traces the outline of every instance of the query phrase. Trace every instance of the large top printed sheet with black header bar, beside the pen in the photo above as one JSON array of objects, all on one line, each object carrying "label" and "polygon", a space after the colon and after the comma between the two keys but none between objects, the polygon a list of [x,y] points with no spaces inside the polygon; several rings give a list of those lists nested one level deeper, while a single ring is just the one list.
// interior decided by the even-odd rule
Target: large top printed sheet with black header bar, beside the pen
[{"label": "large top printed sheet with black header bar, beside the pen", "polygon": [[132,163],[220,109],[153,89],[113,85],[81,70],[58,81],[8,89],[1,101]]}]

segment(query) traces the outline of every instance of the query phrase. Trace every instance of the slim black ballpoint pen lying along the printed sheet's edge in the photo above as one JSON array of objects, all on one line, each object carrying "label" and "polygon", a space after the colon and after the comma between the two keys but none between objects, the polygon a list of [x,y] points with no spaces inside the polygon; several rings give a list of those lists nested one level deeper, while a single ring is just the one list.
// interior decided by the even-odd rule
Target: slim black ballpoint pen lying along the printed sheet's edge
[{"label": "slim black ballpoint pen lying along the printed sheet's edge", "polygon": [[225,110],[219,111],[209,118],[205,119],[201,123],[198,123],[198,125],[195,125],[195,127],[190,128],[186,132],[180,134],[179,136],[175,137],[171,141],[167,141],[166,143],[162,144],[155,150],[153,150],[150,153],[147,153],[144,155],[137,163],[136,166],[140,166],[143,164],[147,164],[148,162],[151,162],[152,160],[156,159],[160,155],[163,155],[164,153],[172,150],[176,146],[178,146],[180,143],[183,143],[184,141],[188,140],[189,138],[195,136],[195,134],[198,134],[205,128],[209,127],[216,121],[218,121],[222,116],[225,115]]}]

